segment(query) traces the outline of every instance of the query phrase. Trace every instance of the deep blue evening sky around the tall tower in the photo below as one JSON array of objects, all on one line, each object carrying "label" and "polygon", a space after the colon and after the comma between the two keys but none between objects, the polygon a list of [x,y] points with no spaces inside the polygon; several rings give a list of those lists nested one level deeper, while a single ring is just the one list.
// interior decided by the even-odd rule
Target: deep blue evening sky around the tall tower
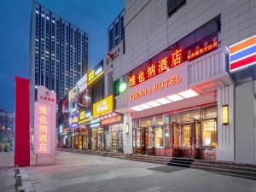
[{"label": "deep blue evening sky around the tall tower", "polygon": [[[65,20],[89,33],[89,67],[108,51],[108,26],[124,0],[38,0]],[[0,1],[0,108],[15,110],[15,75],[29,78],[29,27],[32,0]]]}]

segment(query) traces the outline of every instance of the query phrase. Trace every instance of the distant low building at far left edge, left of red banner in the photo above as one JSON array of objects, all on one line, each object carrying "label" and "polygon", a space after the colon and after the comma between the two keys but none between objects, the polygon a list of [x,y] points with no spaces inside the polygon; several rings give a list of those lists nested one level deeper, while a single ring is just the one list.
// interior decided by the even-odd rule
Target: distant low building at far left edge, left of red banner
[{"label": "distant low building at far left edge, left of red banner", "polygon": [[14,114],[0,109],[0,139],[14,138]]}]

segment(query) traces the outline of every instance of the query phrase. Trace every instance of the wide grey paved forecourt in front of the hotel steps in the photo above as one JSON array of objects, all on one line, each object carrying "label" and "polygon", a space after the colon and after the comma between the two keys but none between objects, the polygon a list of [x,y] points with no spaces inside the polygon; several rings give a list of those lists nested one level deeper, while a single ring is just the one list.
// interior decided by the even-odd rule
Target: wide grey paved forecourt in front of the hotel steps
[{"label": "wide grey paved forecourt in front of the hotel steps", "polygon": [[255,192],[256,181],[202,170],[58,152],[56,165],[21,168],[26,191]]}]

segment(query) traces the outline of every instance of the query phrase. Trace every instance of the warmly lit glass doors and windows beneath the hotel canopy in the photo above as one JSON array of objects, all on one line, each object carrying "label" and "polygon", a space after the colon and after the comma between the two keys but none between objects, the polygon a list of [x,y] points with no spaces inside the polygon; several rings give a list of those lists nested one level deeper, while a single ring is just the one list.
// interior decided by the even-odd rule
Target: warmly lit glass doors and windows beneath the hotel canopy
[{"label": "warmly lit glass doors and windows beneath the hotel canopy", "polygon": [[134,119],[133,153],[215,159],[217,131],[214,105]]}]

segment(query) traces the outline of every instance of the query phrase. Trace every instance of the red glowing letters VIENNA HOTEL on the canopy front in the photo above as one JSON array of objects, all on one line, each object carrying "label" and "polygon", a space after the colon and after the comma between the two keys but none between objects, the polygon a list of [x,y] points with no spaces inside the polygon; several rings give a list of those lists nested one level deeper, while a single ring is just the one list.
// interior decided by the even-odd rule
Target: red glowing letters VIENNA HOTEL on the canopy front
[{"label": "red glowing letters VIENNA HOTEL on the canopy front", "polygon": [[164,80],[162,80],[158,83],[153,84],[153,86],[148,86],[148,87],[144,88],[143,90],[138,90],[138,91],[132,93],[129,96],[129,99],[131,101],[136,100],[137,98],[147,96],[147,95],[152,94],[156,91],[159,91],[159,90],[165,89],[167,87],[170,87],[174,84],[179,84],[179,83],[181,83],[181,81],[182,81],[182,79],[180,78],[179,75],[172,76],[171,78],[164,79]]}]

